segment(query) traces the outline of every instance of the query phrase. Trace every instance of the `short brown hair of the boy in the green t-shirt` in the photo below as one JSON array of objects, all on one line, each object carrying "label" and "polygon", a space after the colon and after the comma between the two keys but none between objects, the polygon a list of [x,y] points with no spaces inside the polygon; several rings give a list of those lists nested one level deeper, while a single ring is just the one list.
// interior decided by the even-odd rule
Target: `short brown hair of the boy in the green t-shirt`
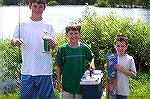
[{"label": "short brown hair of the boy in the green t-shirt", "polygon": [[79,24],[75,23],[75,22],[71,22],[71,23],[69,23],[69,25],[65,28],[65,30],[66,30],[66,33],[68,33],[70,30],[72,30],[72,31],[78,30],[79,33],[80,33],[81,26],[80,26]]}]

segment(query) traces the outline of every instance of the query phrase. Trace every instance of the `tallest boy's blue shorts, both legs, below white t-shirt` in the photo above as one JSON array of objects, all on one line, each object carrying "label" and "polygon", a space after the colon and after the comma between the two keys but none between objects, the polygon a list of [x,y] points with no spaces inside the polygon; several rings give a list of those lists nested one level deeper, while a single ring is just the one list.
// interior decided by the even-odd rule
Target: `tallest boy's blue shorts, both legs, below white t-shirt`
[{"label": "tallest boy's blue shorts, both legs, below white t-shirt", "polygon": [[55,99],[51,75],[21,75],[21,99]]}]

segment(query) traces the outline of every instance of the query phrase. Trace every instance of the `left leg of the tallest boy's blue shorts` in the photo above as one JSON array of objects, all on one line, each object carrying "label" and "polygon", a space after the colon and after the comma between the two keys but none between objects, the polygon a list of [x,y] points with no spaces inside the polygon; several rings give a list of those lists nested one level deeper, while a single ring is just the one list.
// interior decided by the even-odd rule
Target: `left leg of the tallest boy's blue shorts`
[{"label": "left leg of the tallest boy's blue shorts", "polygon": [[20,99],[36,99],[36,86],[34,77],[31,75],[21,75]]}]

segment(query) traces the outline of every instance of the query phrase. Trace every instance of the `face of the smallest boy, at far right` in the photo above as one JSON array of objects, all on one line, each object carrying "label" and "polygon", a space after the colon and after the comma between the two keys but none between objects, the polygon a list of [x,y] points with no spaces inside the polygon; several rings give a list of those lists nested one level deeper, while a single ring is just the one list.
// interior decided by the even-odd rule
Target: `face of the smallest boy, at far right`
[{"label": "face of the smallest boy, at far right", "polygon": [[116,44],[114,45],[116,51],[118,54],[125,54],[125,51],[128,47],[128,45],[126,45],[126,42],[122,41],[117,41]]}]

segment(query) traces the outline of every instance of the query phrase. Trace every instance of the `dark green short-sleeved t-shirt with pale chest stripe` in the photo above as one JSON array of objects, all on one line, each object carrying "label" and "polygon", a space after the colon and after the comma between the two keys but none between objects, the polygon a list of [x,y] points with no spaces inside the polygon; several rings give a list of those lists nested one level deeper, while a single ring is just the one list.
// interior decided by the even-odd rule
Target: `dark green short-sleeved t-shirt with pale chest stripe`
[{"label": "dark green short-sleeved t-shirt with pale chest stripe", "polygon": [[77,48],[71,48],[68,44],[60,47],[55,64],[62,66],[64,91],[80,94],[80,79],[86,70],[86,62],[90,62],[93,57],[90,48],[83,43]]}]

